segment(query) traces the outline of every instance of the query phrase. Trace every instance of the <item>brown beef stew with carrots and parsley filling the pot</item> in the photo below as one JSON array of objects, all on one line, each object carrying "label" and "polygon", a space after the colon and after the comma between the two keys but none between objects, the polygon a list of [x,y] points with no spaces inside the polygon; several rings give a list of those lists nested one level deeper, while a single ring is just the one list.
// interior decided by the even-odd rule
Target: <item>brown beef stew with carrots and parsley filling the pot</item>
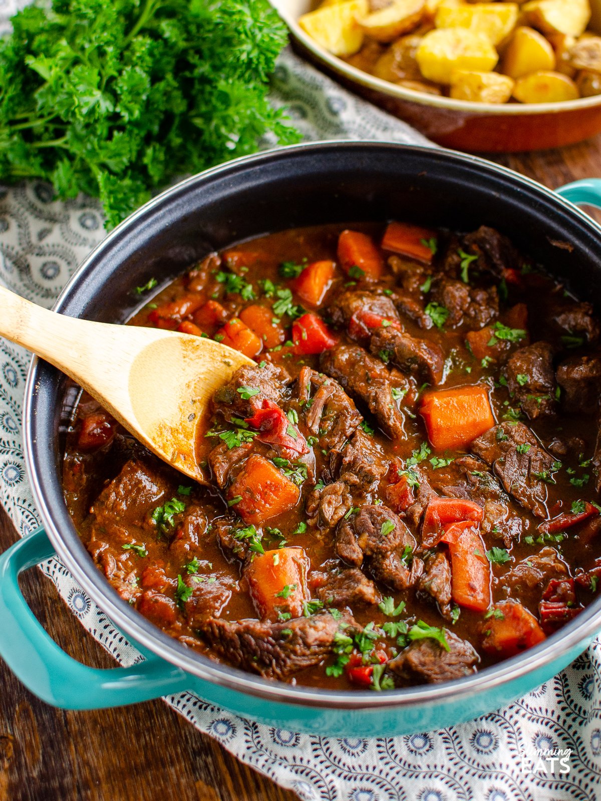
[{"label": "brown beef stew with carrots and parsley filling the pot", "polygon": [[87,396],[67,438],[91,557],[179,642],[386,690],[518,654],[595,598],[599,320],[497,231],[284,231],[207,256],[131,324],[256,361],[200,421],[208,487]]}]

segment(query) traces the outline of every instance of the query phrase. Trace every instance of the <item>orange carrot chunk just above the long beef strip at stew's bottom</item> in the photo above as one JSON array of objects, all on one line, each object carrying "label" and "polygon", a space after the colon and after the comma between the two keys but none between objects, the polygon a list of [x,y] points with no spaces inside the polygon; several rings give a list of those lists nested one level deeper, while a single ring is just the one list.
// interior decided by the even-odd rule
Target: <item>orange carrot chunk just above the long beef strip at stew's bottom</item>
[{"label": "orange carrot chunk just above the long beef strip at stew's bottom", "polygon": [[282,613],[289,613],[292,618],[300,618],[303,604],[310,598],[308,570],[309,559],[302,548],[257,553],[244,576],[260,617],[276,620]]}]

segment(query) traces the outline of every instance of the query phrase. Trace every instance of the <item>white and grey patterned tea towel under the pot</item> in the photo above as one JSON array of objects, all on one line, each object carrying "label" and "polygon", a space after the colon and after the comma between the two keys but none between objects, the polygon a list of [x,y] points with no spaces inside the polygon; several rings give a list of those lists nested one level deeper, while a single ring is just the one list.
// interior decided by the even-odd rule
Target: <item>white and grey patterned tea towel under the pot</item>
[{"label": "white and grey patterned tea towel under the pot", "polygon": [[[0,0],[2,19],[14,0]],[[6,30],[6,24],[5,24]],[[426,140],[296,58],[280,57],[273,99],[307,139]],[[52,200],[42,183],[0,187],[0,281],[51,307],[103,238],[96,203]],[[29,356],[0,340],[0,499],[24,536],[39,524],[22,451]],[[42,566],[83,626],[122,665],[135,650],[56,559]],[[335,739],[267,727],[192,694],[166,699],[200,731],[305,801],[595,801],[601,796],[601,645],[510,707],[473,723],[405,737]],[[543,759],[538,760],[537,754]],[[559,755],[555,771],[545,755]],[[534,759],[534,763],[533,763]],[[549,771],[545,772],[545,768]]]}]

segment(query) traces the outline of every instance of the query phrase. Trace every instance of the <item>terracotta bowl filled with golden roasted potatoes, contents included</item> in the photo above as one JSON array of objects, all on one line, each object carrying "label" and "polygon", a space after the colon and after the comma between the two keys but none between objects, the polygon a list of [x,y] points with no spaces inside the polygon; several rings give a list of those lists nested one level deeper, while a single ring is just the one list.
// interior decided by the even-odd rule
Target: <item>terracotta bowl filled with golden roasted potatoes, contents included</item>
[{"label": "terracotta bowl filled with golden roasted potatoes, contents included", "polygon": [[601,0],[272,0],[292,43],[446,147],[511,152],[601,131]]}]

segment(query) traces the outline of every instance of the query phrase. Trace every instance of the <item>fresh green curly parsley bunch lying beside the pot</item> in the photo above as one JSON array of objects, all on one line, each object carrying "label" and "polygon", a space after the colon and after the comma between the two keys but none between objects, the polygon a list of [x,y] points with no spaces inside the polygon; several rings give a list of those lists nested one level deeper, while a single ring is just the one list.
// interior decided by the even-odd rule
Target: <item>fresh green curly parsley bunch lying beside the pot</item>
[{"label": "fresh green curly parsley bunch lying beside the pot", "polygon": [[54,0],[0,40],[0,179],[99,197],[113,227],[175,176],[296,140],[268,103],[267,0]]}]

